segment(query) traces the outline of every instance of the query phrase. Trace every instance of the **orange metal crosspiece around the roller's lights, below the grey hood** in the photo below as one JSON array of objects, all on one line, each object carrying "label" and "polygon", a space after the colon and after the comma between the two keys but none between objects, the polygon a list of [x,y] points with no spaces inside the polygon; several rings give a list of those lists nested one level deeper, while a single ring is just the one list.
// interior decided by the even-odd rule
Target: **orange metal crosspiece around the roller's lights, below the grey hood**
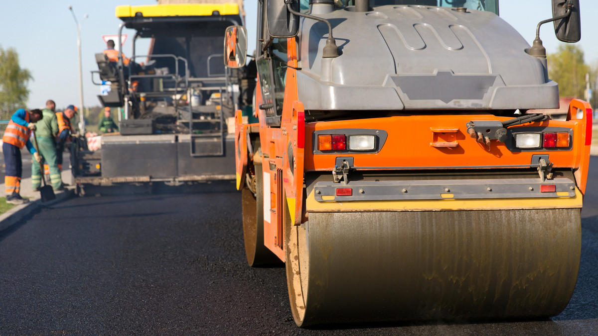
[{"label": "orange metal crosspiece around the roller's lights, below the grey hood", "polygon": [[[351,156],[355,167],[365,169],[438,169],[438,168],[500,168],[529,165],[532,155],[549,154],[554,167],[580,167],[577,158],[580,146],[584,146],[586,119],[570,121],[545,121],[520,127],[565,127],[573,130],[572,150],[553,150],[550,152],[511,152],[504,143],[491,141],[490,150],[485,144],[478,143],[467,134],[466,123],[469,121],[499,120],[510,118],[496,117],[490,114],[479,115],[414,115],[390,116],[387,118],[356,119],[347,121],[312,122],[306,124],[306,171],[331,171],[338,156]],[[455,140],[457,147],[430,146],[432,129],[457,129]],[[361,128],[385,130],[388,138],[379,153],[313,154],[314,131]],[[334,131],[332,131],[334,132]],[[589,148],[589,147],[588,147]]]}]

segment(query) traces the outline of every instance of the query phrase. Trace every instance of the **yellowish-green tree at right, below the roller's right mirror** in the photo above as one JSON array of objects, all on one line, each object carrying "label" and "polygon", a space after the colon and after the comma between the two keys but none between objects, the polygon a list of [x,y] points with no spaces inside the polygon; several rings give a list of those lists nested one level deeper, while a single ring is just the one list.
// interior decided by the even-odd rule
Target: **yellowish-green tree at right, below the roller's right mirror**
[{"label": "yellowish-green tree at right, below the roller's right mirror", "polygon": [[584,99],[585,74],[590,67],[585,64],[584,51],[574,44],[561,44],[559,51],[548,55],[548,77],[559,83],[561,97]]}]

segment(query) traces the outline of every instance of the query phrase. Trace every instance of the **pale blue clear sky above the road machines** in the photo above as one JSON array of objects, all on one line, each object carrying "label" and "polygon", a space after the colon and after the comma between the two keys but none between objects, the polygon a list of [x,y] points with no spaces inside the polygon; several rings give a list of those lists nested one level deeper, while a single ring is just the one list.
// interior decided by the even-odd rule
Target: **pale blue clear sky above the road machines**
[{"label": "pale blue clear sky above the road machines", "polygon": [[[99,87],[91,82],[91,70],[97,70],[94,53],[105,49],[102,35],[118,33],[120,20],[114,16],[117,5],[151,5],[154,0],[20,0],[2,1],[0,11],[0,46],[15,48],[19,53],[21,67],[29,69],[33,81],[29,82],[29,108],[41,107],[48,99],[56,101],[57,108],[69,104],[79,105],[79,73],[77,58],[77,25],[68,6],[72,5],[81,22],[85,14],[89,17],[81,25],[83,58],[84,104],[97,106]],[[598,14],[598,1],[580,0],[582,38],[579,46],[584,50],[588,64],[598,64],[598,35],[594,18]],[[251,54],[255,45],[255,12],[257,0],[246,0],[246,26],[251,41]],[[532,43],[536,24],[552,16],[550,0],[501,0],[501,17],[510,23],[521,35]],[[125,31],[129,38],[132,31]],[[557,50],[559,41],[554,37],[553,26],[544,24],[542,41],[548,53]],[[140,48],[138,46],[138,48]],[[139,49],[138,49],[139,50]],[[130,56],[130,39],[123,52]],[[97,81],[97,79],[96,79]]]}]

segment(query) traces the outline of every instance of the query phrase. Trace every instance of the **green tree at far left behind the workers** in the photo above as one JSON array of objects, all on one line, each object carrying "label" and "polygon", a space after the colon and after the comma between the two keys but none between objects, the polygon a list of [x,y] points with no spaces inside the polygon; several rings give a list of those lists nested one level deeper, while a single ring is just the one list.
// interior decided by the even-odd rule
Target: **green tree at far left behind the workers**
[{"label": "green tree at far left behind the workers", "polygon": [[8,119],[10,113],[25,106],[29,97],[27,84],[31,79],[29,70],[19,66],[17,51],[0,47],[0,118]]}]

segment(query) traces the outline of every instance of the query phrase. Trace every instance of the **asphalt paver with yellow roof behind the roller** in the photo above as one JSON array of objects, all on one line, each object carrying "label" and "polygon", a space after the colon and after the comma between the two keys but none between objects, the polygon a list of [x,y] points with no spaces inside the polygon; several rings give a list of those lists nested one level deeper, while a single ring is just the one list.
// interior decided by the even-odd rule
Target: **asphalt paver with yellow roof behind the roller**
[{"label": "asphalt paver with yellow roof behind the roller", "polygon": [[[234,134],[239,106],[238,70],[224,66],[222,34],[243,25],[237,3],[118,6],[123,29],[135,30],[128,65],[96,54],[99,99],[117,111],[120,132],[85,138],[73,146],[79,186],[118,183],[194,183],[234,180]],[[136,45],[149,39],[147,55]],[[228,120],[227,120],[228,119]],[[233,124],[230,123],[233,130]]]}]

